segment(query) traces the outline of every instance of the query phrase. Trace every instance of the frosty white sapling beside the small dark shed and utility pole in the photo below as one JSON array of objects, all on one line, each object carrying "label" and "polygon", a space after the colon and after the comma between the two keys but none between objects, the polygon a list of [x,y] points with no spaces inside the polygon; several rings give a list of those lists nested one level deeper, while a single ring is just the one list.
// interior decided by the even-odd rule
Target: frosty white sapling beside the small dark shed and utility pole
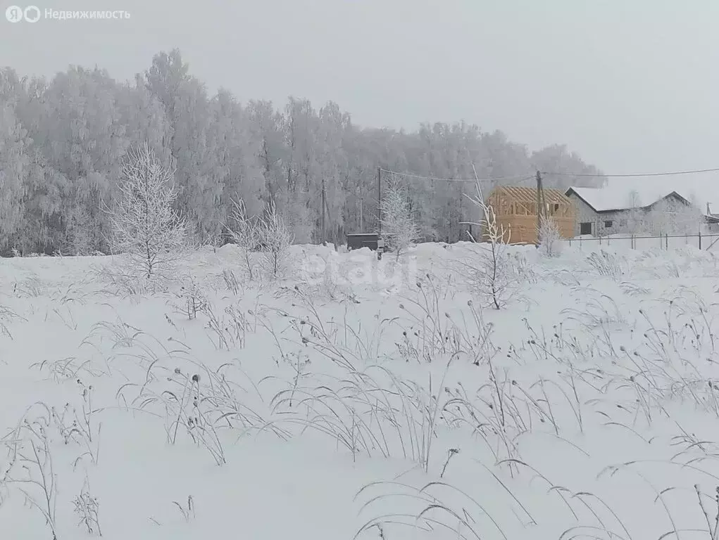
[{"label": "frosty white sapling beside the small dark shed and utility pole", "polygon": [[407,192],[394,176],[387,182],[385,197],[380,202],[380,213],[385,246],[399,259],[400,254],[419,240],[420,231],[412,218]]}]

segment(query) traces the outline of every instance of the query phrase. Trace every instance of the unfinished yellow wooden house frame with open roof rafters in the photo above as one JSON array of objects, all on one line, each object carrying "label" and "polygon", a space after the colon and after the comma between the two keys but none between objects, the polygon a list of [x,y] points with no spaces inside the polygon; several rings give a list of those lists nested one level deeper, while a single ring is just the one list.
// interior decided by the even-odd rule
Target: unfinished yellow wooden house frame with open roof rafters
[{"label": "unfinished yellow wooden house frame with open roof rafters", "polygon": [[[562,238],[574,236],[574,205],[561,190],[544,189],[546,214],[554,218]],[[507,231],[509,243],[536,243],[537,190],[533,187],[498,186],[490,192],[487,206],[493,208],[497,224]],[[486,230],[483,231],[486,235]]]}]

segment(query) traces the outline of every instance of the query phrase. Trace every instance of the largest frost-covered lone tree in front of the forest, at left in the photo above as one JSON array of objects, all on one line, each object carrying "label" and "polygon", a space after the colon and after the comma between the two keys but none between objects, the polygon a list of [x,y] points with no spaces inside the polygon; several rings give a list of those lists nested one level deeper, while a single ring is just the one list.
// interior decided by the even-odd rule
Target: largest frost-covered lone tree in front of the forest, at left
[{"label": "largest frost-covered lone tree in front of the forest, at left", "polygon": [[107,208],[114,253],[129,257],[136,276],[163,276],[185,245],[187,226],[173,209],[173,170],[145,144],[129,152],[119,193]]}]

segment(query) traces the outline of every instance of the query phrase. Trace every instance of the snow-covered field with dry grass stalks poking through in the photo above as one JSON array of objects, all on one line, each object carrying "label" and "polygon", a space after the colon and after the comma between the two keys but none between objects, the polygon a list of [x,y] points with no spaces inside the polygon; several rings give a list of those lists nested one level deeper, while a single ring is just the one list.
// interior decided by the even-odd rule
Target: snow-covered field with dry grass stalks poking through
[{"label": "snow-covered field with dry grass stalks poking through", "polygon": [[592,245],[3,259],[1,536],[717,539],[719,259]]}]

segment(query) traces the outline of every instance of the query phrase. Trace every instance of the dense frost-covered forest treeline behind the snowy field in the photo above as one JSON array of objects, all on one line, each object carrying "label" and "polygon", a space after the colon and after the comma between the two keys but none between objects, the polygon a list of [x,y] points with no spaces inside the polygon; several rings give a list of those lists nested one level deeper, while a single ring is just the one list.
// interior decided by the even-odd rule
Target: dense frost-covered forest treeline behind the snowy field
[{"label": "dense frost-covered forest treeline behind the snowy field", "polygon": [[[298,243],[372,231],[377,167],[438,178],[472,178],[473,164],[482,178],[540,169],[565,173],[545,179],[547,187],[562,188],[604,181],[563,144],[530,152],[501,131],[464,122],[375,129],[353,124],[333,102],[316,108],[293,97],[277,106],[240,103],[227,90],[211,96],[179,50],[155,55],[132,81],[114,80],[98,67],[70,66],[50,80],[6,67],[0,70],[0,251],[106,252],[104,208],[122,180],[127,152],[146,141],[175,169],[177,210],[201,242],[221,236],[232,201],[240,198],[249,213],[275,200]],[[459,239],[471,183],[404,181],[423,237]]]}]

